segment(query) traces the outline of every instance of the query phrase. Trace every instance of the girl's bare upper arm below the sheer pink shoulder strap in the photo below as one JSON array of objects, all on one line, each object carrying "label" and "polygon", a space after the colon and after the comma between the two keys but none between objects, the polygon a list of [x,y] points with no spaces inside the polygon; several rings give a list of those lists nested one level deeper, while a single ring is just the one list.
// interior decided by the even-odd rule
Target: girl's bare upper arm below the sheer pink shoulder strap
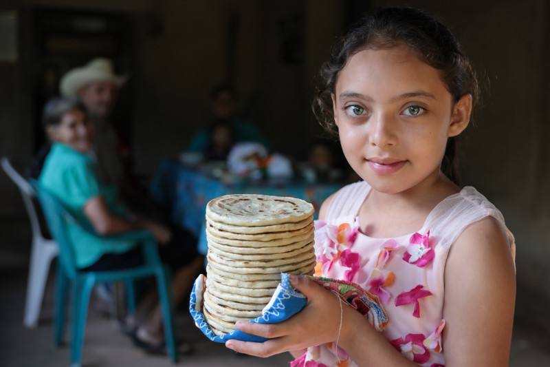
[{"label": "girl's bare upper arm below the sheer pink shoulder strap", "polygon": [[470,225],[445,266],[445,366],[508,366],[515,300],[506,234],[492,217]]}]

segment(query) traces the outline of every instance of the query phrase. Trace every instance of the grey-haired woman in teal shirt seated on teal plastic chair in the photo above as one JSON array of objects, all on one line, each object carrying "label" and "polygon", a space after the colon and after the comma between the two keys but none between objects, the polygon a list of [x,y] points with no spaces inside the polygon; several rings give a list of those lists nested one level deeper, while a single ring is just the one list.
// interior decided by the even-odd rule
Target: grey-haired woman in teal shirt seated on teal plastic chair
[{"label": "grey-haired woman in teal shirt seated on teal plastic chair", "polygon": [[[188,232],[169,229],[164,224],[129,213],[118,198],[115,187],[106,185],[94,163],[94,134],[85,107],[78,101],[56,98],[45,105],[43,123],[52,140],[45,159],[40,184],[74,213],[81,222],[91,224],[100,235],[147,229],[159,244],[163,262],[172,269],[172,295],[179,304],[199,273],[203,258],[197,241]],[[76,264],[89,271],[126,269],[142,264],[142,251],[134,241],[98,238],[78,226],[69,227]],[[148,352],[164,351],[162,314],[154,297],[144,297],[129,321],[133,324],[134,342]],[[181,353],[190,346],[181,345]]]}]

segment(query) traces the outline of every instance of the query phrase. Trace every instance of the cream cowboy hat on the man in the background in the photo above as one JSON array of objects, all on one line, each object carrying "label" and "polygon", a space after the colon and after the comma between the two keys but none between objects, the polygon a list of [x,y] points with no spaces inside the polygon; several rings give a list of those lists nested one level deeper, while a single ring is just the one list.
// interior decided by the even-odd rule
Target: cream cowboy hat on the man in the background
[{"label": "cream cowboy hat on the man in the background", "polygon": [[59,89],[63,96],[74,97],[81,87],[95,81],[110,81],[120,87],[126,79],[127,76],[114,73],[111,60],[98,57],[83,67],[76,67],[65,73],[59,82]]}]

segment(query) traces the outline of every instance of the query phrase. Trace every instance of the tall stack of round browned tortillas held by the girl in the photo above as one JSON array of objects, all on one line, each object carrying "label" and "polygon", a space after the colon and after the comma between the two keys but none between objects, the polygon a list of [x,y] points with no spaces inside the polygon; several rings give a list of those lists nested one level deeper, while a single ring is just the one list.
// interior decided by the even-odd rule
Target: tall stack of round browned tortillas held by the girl
[{"label": "tall stack of round browned tortillas held by the girl", "polygon": [[281,273],[311,274],[314,207],[296,198],[226,195],[208,202],[203,315],[216,335],[261,316]]}]

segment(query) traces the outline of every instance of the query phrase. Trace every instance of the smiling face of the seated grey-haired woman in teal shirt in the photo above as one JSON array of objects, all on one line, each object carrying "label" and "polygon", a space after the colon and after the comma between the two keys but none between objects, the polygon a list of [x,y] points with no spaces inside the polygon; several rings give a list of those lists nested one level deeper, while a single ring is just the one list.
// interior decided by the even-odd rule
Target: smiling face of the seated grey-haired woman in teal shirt
[{"label": "smiling face of the seated grey-haired woman in teal shirt", "polygon": [[48,127],[47,132],[54,142],[65,143],[76,151],[85,153],[92,148],[92,127],[79,108],[65,112],[59,125]]}]

